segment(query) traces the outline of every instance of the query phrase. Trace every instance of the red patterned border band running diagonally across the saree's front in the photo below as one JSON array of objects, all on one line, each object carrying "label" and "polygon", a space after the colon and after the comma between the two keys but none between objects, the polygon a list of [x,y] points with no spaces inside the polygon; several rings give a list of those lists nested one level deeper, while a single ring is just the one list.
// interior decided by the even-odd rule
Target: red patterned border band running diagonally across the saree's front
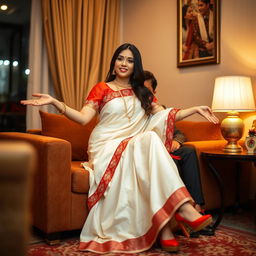
[{"label": "red patterned border band running diagonally across the saree's front", "polygon": [[124,152],[129,140],[131,139],[127,138],[124,139],[117,147],[114,155],[112,156],[112,159],[109,162],[109,165],[103,174],[103,177],[101,178],[101,181],[96,189],[96,191],[88,198],[87,204],[89,210],[101,199],[101,197],[104,195],[109,182],[112,180],[112,177],[115,173],[116,167],[120,161],[121,155]]}]

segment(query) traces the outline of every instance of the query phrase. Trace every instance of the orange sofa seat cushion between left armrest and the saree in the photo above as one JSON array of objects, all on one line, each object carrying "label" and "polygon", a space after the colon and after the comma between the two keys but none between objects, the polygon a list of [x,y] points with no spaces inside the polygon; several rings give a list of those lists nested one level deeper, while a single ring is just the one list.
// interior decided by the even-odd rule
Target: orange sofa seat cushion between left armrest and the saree
[{"label": "orange sofa seat cushion between left armrest and the saree", "polygon": [[81,166],[81,161],[71,162],[71,191],[74,193],[88,193],[89,172]]}]

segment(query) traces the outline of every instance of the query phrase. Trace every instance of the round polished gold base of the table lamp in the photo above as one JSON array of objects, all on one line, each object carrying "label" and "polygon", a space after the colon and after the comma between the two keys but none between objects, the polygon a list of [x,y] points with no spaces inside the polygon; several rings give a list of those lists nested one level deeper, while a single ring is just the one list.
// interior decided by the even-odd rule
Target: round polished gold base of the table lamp
[{"label": "round polished gold base of the table lamp", "polygon": [[240,153],[243,151],[242,147],[237,144],[243,135],[244,124],[243,120],[239,118],[239,113],[230,111],[227,117],[222,121],[221,134],[228,142],[223,148],[226,153]]}]

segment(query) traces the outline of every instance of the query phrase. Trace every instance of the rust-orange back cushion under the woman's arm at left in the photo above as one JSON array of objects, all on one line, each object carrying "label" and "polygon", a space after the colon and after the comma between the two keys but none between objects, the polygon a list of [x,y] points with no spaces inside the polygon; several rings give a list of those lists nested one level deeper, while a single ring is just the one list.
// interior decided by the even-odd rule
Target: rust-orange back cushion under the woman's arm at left
[{"label": "rust-orange back cushion under the woman's arm at left", "polygon": [[87,147],[90,134],[96,125],[94,118],[87,125],[77,124],[63,115],[39,111],[42,122],[42,135],[67,140],[72,146],[72,159],[87,161]]}]

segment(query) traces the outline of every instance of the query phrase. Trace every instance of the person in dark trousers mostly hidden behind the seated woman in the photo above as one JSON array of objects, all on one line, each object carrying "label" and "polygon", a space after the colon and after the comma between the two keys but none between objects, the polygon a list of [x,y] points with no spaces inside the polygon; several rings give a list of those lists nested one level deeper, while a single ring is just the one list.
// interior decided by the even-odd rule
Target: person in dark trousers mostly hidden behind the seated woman
[{"label": "person in dark trousers mostly hidden behind the seated woman", "polygon": [[[144,85],[153,93],[156,93],[157,80],[154,75],[149,71],[144,71],[145,81]],[[165,107],[165,106],[164,106]],[[201,206],[204,205],[204,198],[201,188],[199,164],[196,151],[192,146],[183,145],[186,141],[185,135],[174,127],[173,142],[171,146],[171,154],[179,156],[180,160],[173,158],[176,163],[180,176],[186,185],[192,198],[195,200],[195,208],[199,212],[203,212]],[[201,235],[214,235],[214,230],[211,227],[198,232],[192,232],[191,237],[198,237]]]}]

